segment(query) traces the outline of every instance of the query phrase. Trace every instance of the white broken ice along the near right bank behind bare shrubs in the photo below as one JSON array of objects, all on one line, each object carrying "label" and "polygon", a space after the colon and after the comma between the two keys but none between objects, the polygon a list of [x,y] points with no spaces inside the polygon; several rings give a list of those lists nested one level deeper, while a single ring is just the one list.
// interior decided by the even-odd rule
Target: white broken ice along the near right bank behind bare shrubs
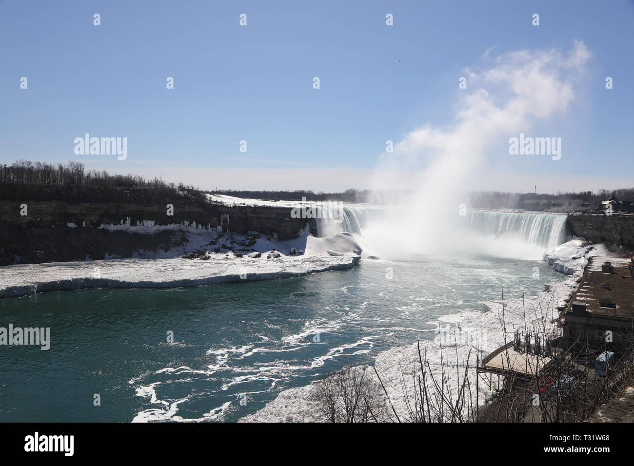
[{"label": "white broken ice along the near right bank behind bare shrubs", "polygon": [[[603,248],[599,246],[597,250],[602,251]],[[470,351],[467,372],[470,380],[475,380],[476,356],[482,359],[486,354],[508,342],[508,337],[501,327],[502,320],[507,330],[537,327],[542,315],[545,316],[546,321],[550,322],[559,314],[557,305],[569,297],[575,288],[576,278],[571,276],[563,282],[552,283],[549,292],[523,298],[505,295],[504,306],[501,305],[501,295],[499,300],[486,301],[484,304],[491,309],[487,313],[462,311],[443,315],[437,321],[430,321],[438,327],[427,331],[436,332],[437,335],[433,340],[420,342],[422,358],[429,361],[434,377],[440,380],[443,366],[463,368],[467,364],[467,354]],[[441,323],[455,324],[448,336],[438,332]],[[418,364],[417,344],[392,347],[382,351],[375,358],[378,373],[394,408],[401,416],[408,412],[408,401],[404,396],[403,386],[410,394],[417,390],[414,382],[410,380],[411,374],[410,377],[404,377],[404,375],[413,368],[417,368]],[[462,370],[459,372],[462,373]],[[450,386],[458,386],[458,375],[455,370],[445,370],[444,375]],[[481,384],[479,389],[480,402],[483,404],[491,396],[491,392],[484,384]],[[288,416],[292,417],[294,422],[315,421],[317,419],[309,402],[310,392],[311,385],[281,392],[274,401],[257,413],[241,418],[240,422],[284,422]]]}]

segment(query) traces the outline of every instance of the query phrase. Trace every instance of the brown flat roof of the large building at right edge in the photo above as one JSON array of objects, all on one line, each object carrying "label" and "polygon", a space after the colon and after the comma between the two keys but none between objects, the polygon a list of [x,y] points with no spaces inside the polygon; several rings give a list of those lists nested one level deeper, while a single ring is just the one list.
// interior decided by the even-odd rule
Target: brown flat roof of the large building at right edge
[{"label": "brown flat roof of the large building at right edge", "polygon": [[[614,267],[614,273],[604,273],[601,266],[610,262]],[[590,257],[583,270],[579,287],[573,292],[570,302],[586,305],[586,312],[593,315],[616,316],[623,318],[634,317],[634,280],[630,278],[630,259],[617,259],[616,257]],[[626,278],[623,278],[626,277]],[[612,290],[605,290],[602,284],[612,285]],[[611,299],[614,307],[601,307],[600,299]],[[567,312],[571,311],[571,306]]]}]

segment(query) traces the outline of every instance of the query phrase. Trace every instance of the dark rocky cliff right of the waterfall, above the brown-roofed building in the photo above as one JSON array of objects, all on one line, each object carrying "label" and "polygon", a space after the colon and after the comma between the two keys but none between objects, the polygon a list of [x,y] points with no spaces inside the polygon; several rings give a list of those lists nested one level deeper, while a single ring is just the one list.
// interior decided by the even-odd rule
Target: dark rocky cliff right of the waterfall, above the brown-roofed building
[{"label": "dark rocky cliff right of the waterfall, above the brown-roofed building", "polygon": [[567,223],[573,235],[594,243],[616,243],[634,250],[634,215],[569,214]]}]

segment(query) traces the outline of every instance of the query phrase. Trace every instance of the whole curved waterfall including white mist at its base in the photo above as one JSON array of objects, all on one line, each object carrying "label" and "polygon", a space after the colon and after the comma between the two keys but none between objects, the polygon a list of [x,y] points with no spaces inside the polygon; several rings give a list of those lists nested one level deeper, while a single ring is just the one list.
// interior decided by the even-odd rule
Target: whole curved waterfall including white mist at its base
[{"label": "whole curved waterfall including white mist at its base", "polygon": [[443,216],[444,230],[434,224],[420,222],[403,233],[406,208],[342,207],[340,222],[332,217],[318,219],[318,234],[332,236],[341,231],[353,233],[363,247],[363,255],[381,259],[409,260],[415,256],[443,254],[540,260],[548,247],[567,240],[566,215],[538,212],[467,209],[463,216]]}]

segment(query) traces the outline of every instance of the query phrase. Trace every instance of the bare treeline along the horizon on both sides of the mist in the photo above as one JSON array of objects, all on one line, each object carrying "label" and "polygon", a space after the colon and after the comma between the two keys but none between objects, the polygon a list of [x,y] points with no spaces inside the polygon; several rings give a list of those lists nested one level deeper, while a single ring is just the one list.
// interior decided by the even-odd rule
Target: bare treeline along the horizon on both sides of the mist
[{"label": "bare treeline along the horizon on both sides of the mist", "polygon": [[[17,188],[16,184],[22,185]],[[312,190],[203,190],[183,183],[166,183],[161,178],[146,179],[145,176],[133,174],[109,174],[105,170],[86,170],[81,162],[69,161],[68,164],[48,164],[46,162],[32,162],[30,160],[16,160],[11,165],[0,164],[0,196],[1,198],[17,198],[19,196],[34,194],[30,198],[46,197],[48,190],[42,186],[67,186],[57,189],[55,197],[64,198],[70,195],[72,198],[80,198],[89,195],[93,202],[109,202],[112,197],[108,191],[112,188],[133,188],[125,190],[125,194],[113,195],[119,201],[122,196],[143,200],[151,200],[154,195],[149,191],[188,191],[190,195],[199,197],[199,193],[216,193],[242,198],[259,198],[265,200],[306,200],[324,201],[339,200],[343,202],[383,202],[387,198],[398,198],[411,195],[413,190],[394,190],[376,193],[372,190],[358,190],[349,188],[342,192],[326,193]],[[40,186],[36,188],[36,186]],[[81,189],[79,189],[81,188]],[[134,188],[138,188],[138,191]],[[141,194],[143,191],[148,191]],[[197,192],[196,192],[197,191]],[[35,195],[37,194],[37,195]],[[634,200],[634,188],[621,188],[616,190],[598,190],[588,194],[588,191],[558,192],[558,193],[513,193],[510,191],[475,191],[471,193],[469,207],[481,207],[488,209],[517,209],[524,200],[529,199],[583,199],[593,205],[600,205],[612,194],[621,200]],[[163,198],[164,195],[160,195]],[[127,201],[129,202],[129,200]]]}]

